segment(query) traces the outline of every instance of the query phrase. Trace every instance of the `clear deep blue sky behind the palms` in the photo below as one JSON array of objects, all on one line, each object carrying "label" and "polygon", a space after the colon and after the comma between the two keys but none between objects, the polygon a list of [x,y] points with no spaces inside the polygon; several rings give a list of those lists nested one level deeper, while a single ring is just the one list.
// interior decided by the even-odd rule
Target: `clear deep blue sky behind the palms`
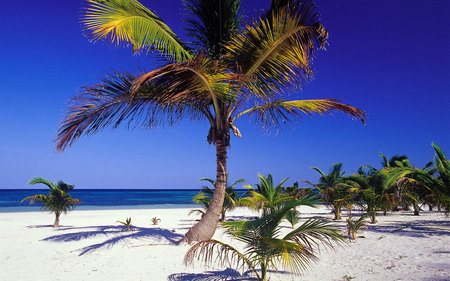
[{"label": "clear deep blue sky behind the palms", "polygon": [[[270,1],[246,1],[249,13]],[[2,4],[0,44],[0,188],[27,188],[36,176],[77,188],[199,188],[215,177],[206,122],[152,130],[106,129],[58,154],[53,139],[67,100],[111,69],[154,69],[151,55],[90,43],[79,24],[81,1],[15,0]],[[182,39],[180,0],[144,0]],[[317,181],[344,163],[351,174],[380,166],[379,152],[406,154],[422,167],[431,142],[450,156],[450,1],[319,0],[330,34],[315,60],[315,79],[293,97],[339,98],[367,111],[367,125],[343,114],[314,116],[278,135],[237,122],[228,170],[249,184],[257,173]]]}]

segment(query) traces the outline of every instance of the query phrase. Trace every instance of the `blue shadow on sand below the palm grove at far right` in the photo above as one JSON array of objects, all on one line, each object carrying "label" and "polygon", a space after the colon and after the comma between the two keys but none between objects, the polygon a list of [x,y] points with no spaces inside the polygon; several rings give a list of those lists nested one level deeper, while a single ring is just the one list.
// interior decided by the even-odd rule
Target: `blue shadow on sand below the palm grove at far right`
[{"label": "blue shadow on sand below the palm grove at far right", "polygon": [[369,231],[411,237],[449,236],[450,220],[394,221],[389,225],[370,225]]}]

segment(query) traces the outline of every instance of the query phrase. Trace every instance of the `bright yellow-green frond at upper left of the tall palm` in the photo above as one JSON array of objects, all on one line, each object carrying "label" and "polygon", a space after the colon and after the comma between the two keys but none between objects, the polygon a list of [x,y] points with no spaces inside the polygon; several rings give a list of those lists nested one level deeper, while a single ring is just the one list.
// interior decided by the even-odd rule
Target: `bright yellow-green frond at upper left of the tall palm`
[{"label": "bright yellow-green frond at upper left of the tall palm", "polygon": [[133,53],[157,50],[178,61],[189,49],[156,14],[136,0],[86,0],[81,23],[92,41],[131,44]]}]

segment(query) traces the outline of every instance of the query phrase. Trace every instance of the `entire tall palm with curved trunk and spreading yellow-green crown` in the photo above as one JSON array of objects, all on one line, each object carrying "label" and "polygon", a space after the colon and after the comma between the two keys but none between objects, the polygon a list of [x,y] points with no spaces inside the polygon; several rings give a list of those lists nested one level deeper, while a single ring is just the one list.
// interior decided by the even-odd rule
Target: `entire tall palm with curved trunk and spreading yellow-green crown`
[{"label": "entire tall palm with curved trunk and spreading yellow-green crown", "polygon": [[290,100],[284,95],[313,74],[311,61],[327,43],[327,31],[311,0],[273,0],[259,17],[242,24],[240,0],[186,0],[192,15],[187,46],[155,13],[136,0],[86,0],[81,23],[93,41],[131,45],[167,64],[150,72],[115,71],[73,98],[56,136],[63,151],[83,134],[128,126],[151,128],[182,119],[205,120],[216,146],[216,189],[203,218],[183,238],[209,239],[225,196],[230,131],[253,118],[267,131],[310,116],[340,111],[364,122],[364,111],[335,99]]}]

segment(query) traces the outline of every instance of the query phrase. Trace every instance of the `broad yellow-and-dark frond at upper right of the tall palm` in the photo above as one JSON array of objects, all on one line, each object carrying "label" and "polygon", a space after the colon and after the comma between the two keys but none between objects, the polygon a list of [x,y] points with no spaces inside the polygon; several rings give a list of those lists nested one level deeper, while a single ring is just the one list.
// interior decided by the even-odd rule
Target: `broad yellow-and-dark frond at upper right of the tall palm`
[{"label": "broad yellow-and-dark frond at upper right of the tall palm", "polygon": [[250,93],[273,98],[312,77],[311,60],[327,37],[312,1],[289,1],[247,24],[227,46],[227,58],[245,75]]}]

